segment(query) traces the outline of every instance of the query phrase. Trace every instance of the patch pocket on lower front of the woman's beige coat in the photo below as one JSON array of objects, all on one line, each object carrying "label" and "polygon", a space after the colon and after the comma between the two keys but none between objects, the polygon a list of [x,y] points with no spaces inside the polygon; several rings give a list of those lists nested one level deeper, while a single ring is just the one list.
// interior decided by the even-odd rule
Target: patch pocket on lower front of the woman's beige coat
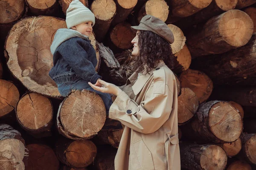
[{"label": "patch pocket on lower front of the woman's beige coat", "polygon": [[132,170],[154,170],[152,154],[148,150],[143,140],[139,140],[132,144],[133,153],[131,153],[131,169]]}]

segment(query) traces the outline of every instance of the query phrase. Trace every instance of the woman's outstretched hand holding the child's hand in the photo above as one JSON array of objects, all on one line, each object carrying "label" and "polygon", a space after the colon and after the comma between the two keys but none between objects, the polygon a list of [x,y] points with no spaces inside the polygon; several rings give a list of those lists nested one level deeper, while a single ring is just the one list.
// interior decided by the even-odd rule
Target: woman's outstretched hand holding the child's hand
[{"label": "woman's outstretched hand holding the child's hand", "polygon": [[[99,82],[98,82],[99,81]],[[122,92],[122,90],[117,87],[116,85],[114,84],[111,84],[111,83],[108,83],[108,82],[105,82],[101,79],[98,79],[97,81],[97,85],[101,84],[100,87],[99,86],[96,86],[96,85],[93,85],[91,82],[88,82],[88,84],[96,91],[100,91],[102,93],[109,93],[109,94],[113,94],[115,96],[118,96],[119,93]]]}]

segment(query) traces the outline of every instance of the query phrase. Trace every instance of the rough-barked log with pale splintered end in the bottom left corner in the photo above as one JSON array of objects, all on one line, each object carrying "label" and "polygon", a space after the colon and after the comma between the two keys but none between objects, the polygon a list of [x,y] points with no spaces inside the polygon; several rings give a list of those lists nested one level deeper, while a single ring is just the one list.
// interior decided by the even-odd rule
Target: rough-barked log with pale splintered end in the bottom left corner
[{"label": "rough-barked log with pale splintered end in the bottom left corner", "polygon": [[20,132],[6,124],[0,125],[1,170],[25,170],[29,151]]}]

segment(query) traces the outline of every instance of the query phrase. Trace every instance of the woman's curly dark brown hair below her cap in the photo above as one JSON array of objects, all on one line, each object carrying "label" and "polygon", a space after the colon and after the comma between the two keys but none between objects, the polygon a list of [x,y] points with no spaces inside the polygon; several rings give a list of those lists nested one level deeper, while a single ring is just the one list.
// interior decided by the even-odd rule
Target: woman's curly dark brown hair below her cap
[{"label": "woman's curly dark brown hair below her cap", "polygon": [[170,68],[174,68],[176,57],[172,54],[172,48],[168,41],[151,31],[140,31],[138,33],[139,55],[136,57],[134,71],[146,73],[157,67],[162,59]]}]

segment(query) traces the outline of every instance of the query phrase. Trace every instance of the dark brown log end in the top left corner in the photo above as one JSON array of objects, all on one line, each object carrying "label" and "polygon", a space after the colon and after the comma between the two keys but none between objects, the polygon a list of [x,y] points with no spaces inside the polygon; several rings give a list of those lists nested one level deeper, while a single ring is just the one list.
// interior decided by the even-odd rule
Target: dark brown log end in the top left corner
[{"label": "dark brown log end in the top left corner", "polygon": [[1,0],[0,24],[12,23],[22,17],[25,0]]}]

